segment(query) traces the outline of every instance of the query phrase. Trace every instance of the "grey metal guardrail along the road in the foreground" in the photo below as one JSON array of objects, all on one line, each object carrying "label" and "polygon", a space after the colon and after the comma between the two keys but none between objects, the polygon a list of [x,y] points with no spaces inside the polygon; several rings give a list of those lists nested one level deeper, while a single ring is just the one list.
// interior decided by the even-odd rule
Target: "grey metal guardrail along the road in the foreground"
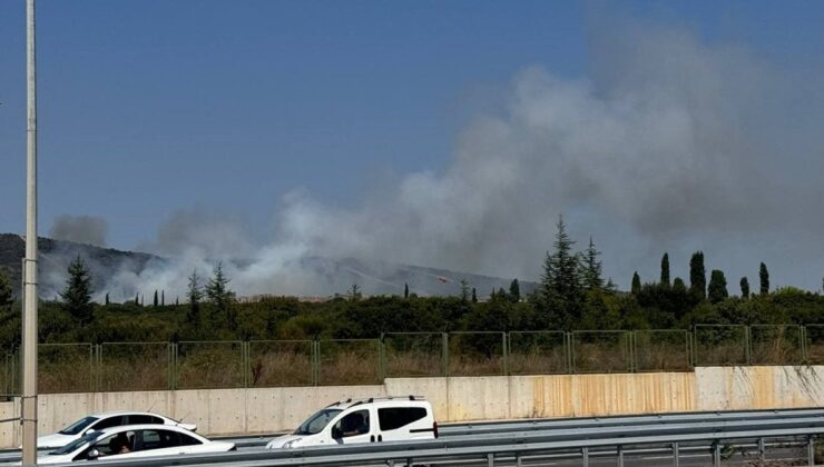
[{"label": "grey metal guardrail along the road in the foreground", "polygon": [[[807,445],[807,457],[813,461],[815,436],[824,435],[824,419],[821,417],[784,420],[738,420],[715,423],[686,423],[666,426],[600,427],[562,429],[548,433],[474,434],[447,437],[429,441],[373,443],[363,445],[341,445],[298,449],[247,450],[216,455],[193,455],[144,458],[122,461],[96,461],[99,467],[117,466],[161,466],[161,465],[243,465],[243,466],[287,466],[287,465],[406,465],[459,460],[484,460],[494,466],[502,457],[514,459],[520,465],[523,456],[558,451],[578,453],[582,465],[588,465],[590,449],[609,448],[624,465],[622,451],[627,447],[667,446],[671,447],[674,464],[678,465],[679,444],[705,443],[713,454],[713,464],[720,465],[720,444],[735,444],[756,440],[764,445],[766,438],[781,438],[797,441],[802,438]],[[762,451],[763,455],[763,451]]]}]

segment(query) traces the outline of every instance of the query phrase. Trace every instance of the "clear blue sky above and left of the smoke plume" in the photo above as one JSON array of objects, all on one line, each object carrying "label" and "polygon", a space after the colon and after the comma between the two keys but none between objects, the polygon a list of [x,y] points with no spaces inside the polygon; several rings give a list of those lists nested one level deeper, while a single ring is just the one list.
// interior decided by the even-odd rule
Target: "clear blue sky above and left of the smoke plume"
[{"label": "clear blue sky above and left of the smoke plume", "polygon": [[[0,231],[24,227],[23,19],[22,0],[0,0]],[[39,0],[40,231],[94,216],[108,245],[129,249],[199,207],[261,239],[295,190],[356,211],[410,173],[448,172],[471,122],[506,112],[523,69],[597,80],[592,43],[625,21],[781,70],[817,67],[824,46],[824,3],[812,1]],[[697,231],[639,236],[644,252],[614,270],[627,282],[640,267],[628,264],[667,241],[702,248]]]}]

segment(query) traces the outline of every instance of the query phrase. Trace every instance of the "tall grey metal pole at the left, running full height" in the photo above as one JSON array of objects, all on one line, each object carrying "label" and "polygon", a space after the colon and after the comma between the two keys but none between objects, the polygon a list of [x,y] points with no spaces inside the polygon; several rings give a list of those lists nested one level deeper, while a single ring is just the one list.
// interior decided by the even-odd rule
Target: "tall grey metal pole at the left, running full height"
[{"label": "tall grey metal pole at the left, running full height", "polygon": [[37,465],[37,78],[35,0],[26,0],[26,260],[23,290],[23,376],[20,425],[22,465]]}]

